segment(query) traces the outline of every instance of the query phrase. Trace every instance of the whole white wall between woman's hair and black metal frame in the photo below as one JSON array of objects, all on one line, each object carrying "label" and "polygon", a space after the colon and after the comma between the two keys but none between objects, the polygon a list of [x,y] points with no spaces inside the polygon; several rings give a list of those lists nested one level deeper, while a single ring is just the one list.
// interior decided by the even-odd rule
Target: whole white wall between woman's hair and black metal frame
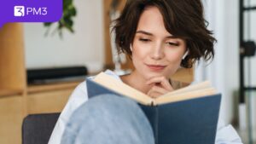
[{"label": "whole white wall between woman's hair and black metal frame", "polygon": [[[195,79],[209,79],[222,93],[220,117],[228,124],[234,118],[234,90],[238,89],[238,0],[206,0],[209,29],[218,40],[215,57],[210,65],[201,62],[195,69]],[[227,9],[229,7],[229,9]]]}]

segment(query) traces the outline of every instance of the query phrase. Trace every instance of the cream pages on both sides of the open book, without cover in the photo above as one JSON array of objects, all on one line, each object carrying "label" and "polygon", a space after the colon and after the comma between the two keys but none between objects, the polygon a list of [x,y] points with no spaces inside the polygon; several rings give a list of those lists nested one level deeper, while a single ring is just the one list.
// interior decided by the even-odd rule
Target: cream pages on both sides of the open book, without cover
[{"label": "cream pages on both sides of the open book, without cover", "polygon": [[[169,103],[173,101],[183,101],[187,99],[197,98],[206,95],[216,94],[216,90],[212,88],[210,82],[202,82],[200,84],[190,85],[188,87],[174,90],[166,95],[162,95],[156,99],[149,97],[148,95],[143,94],[137,89],[132,88],[131,86],[119,82],[116,78],[109,76],[108,74],[101,72],[93,79],[97,84],[113,89],[115,92],[130,97],[138,101],[143,105],[160,105],[164,103]],[[111,83],[110,83],[111,82]]]}]

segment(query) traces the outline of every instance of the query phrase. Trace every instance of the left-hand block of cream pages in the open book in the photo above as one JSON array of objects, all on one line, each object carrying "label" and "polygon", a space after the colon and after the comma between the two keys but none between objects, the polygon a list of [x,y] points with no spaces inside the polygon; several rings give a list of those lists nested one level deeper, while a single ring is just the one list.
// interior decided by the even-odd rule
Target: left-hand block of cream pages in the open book
[{"label": "left-hand block of cream pages in the open book", "polygon": [[137,89],[132,88],[131,86],[120,82],[119,80],[109,76],[108,74],[101,72],[96,75],[96,78],[93,79],[97,84],[112,89],[113,91],[130,97],[133,100],[140,102],[143,105],[151,105],[153,99],[148,95],[143,94],[143,92],[138,91]]}]

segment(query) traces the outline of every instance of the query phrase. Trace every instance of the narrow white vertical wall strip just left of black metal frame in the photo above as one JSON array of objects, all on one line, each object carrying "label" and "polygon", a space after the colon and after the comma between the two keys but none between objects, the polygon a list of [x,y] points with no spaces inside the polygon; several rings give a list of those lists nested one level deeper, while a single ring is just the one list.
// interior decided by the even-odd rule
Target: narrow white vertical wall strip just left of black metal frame
[{"label": "narrow white vertical wall strip just left of black metal frame", "polygon": [[[238,0],[224,1],[224,102],[227,104],[224,116],[228,120],[234,116],[234,91],[239,89],[239,3]],[[227,9],[229,8],[229,9]],[[232,8],[232,9],[231,9]],[[237,99],[237,98],[236,98]],[[230,114],[227,114],[230,113]]]}]

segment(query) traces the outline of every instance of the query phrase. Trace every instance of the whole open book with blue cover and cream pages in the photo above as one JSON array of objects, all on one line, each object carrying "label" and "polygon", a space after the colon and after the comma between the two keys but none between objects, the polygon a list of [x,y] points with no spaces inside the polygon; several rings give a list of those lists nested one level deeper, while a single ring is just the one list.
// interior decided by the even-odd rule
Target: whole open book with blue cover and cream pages
[{"label": "whole open book with blue cover and cream pages", "polygon": [[209,82],[151,98],[101,72],[86,80],[89,98],[102,94],[136,101],[148,118],[156,144],[214,144],[221,94]]}]

